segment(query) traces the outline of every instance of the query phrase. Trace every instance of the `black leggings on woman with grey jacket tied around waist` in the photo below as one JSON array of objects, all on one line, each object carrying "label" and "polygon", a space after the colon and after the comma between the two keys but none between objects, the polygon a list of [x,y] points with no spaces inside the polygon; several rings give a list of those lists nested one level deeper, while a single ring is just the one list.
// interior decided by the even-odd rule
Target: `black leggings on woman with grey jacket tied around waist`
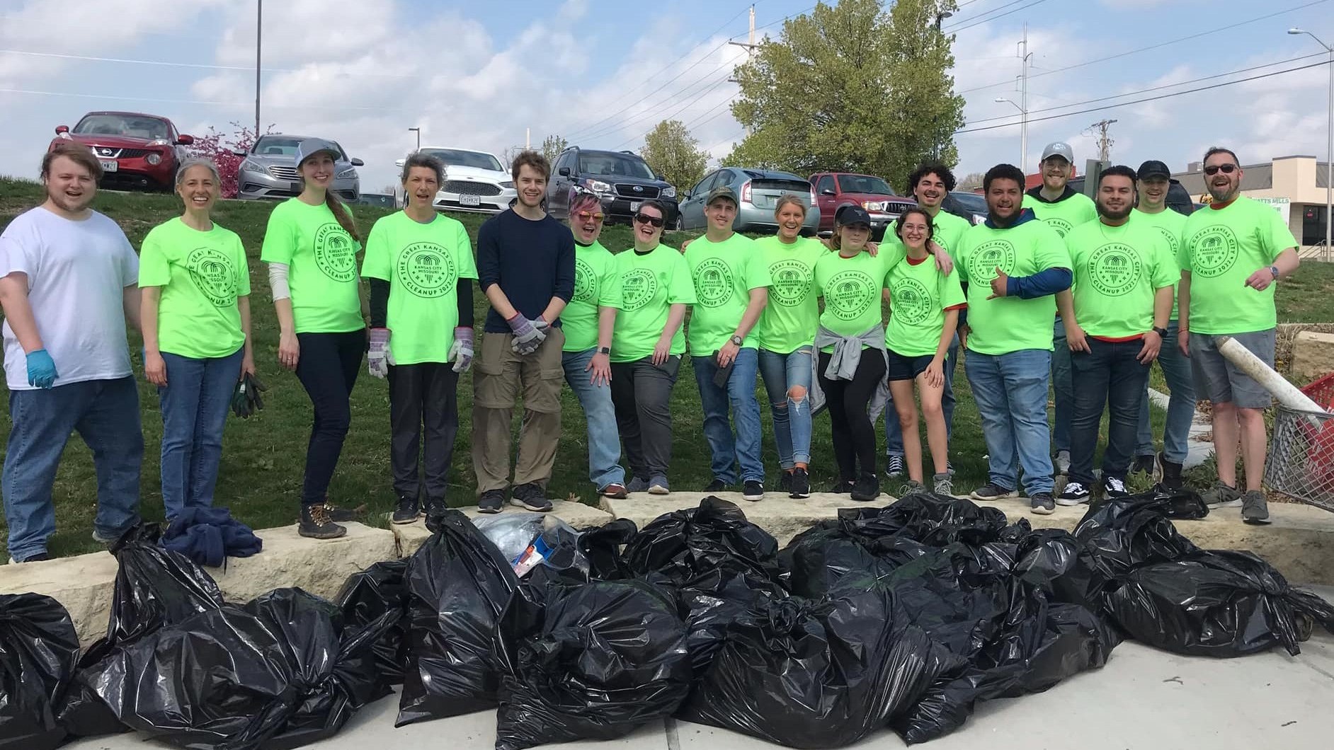
[{"label": "black leggings on woman with grey jacket tied around waist", "polygon": [[875,474],[875,425],[866,408],[884,381],[884,356],[879,349],[863,349],[852,380],[824,377],[830,354],[820,352],[816,377],[824,392],[824,404],[834,425],[834,460],[838,461],[843,481],[858,478],[856,465],[863,474]]}]

